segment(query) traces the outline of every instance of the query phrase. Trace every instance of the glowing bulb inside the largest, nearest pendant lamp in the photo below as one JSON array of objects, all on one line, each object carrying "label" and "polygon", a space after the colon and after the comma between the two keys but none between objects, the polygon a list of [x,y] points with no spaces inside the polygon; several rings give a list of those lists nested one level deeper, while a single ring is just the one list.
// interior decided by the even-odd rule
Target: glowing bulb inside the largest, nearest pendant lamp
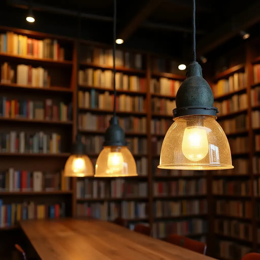
[{"label": "glowing bulb inside the largest, nearest pendant lamp", "polygon": [[186,127],[181,149],[184,156],[191,161],[203,159],[209,151],[207,132],[204,127]]}]

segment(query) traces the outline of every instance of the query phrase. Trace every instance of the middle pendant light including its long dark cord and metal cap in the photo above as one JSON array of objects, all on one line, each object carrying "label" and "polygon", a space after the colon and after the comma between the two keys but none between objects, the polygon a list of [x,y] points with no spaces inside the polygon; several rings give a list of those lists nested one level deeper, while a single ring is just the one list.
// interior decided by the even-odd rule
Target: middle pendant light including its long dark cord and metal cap
[{"label": "middle pendant light including its long dark cord and metal cap", "polygon": [[133,155],[127,148],[125,133],[116,116],[115,89],[115,44],[116,44],[116,0],[114,0],[113,66],[114,66],[114,115],[105,133],[104,149],[100,152],[95,168],[95,177],[137,176]]}]

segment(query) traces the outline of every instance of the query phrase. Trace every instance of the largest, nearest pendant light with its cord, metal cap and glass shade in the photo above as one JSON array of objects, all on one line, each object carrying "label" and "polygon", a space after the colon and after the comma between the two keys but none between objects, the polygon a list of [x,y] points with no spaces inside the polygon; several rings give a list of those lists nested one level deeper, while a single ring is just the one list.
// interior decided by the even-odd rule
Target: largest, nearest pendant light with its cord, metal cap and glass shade
[{"label": "largest, nearest pendant light with its cord, metal cap and glass shade", "polygon": [[193,0],[193,61],[187,68],[187,78],[176,94],[173,109],[174,123],[162,143],[160,165],[162,169],[222,170],[231,169],[228,139],[217,119],[219,112],[213,107],[213,93],[202,77],[202,68],[196,62],[195,0]]}]

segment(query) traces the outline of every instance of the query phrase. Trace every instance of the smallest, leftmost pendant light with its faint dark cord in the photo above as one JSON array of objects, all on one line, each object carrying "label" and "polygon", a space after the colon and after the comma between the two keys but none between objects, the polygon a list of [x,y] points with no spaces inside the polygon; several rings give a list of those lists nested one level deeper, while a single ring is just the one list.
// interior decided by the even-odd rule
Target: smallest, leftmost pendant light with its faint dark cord
[{"label": "smallest, leftmost pendant light with its faint dark cord", "polygon": [[[80,12],[78,17],[78,41],[77,41],[77,69],[79,68],[80,59]],[[77,92],[79,91],[77,83]],[[79,127],[79,107],[78,95],[76,94],[76,125]],[[64,167],[64,176],[66,177],[89,177],[94,176],[93,164],[89,157],[86,155],[86,146],[81,141],[81,135],[77,133],[76,141],[72,144],[72,154],[66,161]]]}]

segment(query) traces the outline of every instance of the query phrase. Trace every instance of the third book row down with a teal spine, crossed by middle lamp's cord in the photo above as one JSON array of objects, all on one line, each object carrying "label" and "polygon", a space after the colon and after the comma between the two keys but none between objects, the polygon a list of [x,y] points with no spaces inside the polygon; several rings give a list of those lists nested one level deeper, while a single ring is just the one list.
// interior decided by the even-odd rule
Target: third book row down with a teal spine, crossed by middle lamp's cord
[{"label": "third book row down with a teal spine, crossed by middle lamp's cord", "polygon": [[[116,96],[116,110],[125,112],[145,112],[144,97],[128,96],[121,94]],[[113,110],[114,95],[109,95],[106,91],[104,94],[98,93],[95,89],[90,92],[79,91],[79,108],[99,108]]]}]

